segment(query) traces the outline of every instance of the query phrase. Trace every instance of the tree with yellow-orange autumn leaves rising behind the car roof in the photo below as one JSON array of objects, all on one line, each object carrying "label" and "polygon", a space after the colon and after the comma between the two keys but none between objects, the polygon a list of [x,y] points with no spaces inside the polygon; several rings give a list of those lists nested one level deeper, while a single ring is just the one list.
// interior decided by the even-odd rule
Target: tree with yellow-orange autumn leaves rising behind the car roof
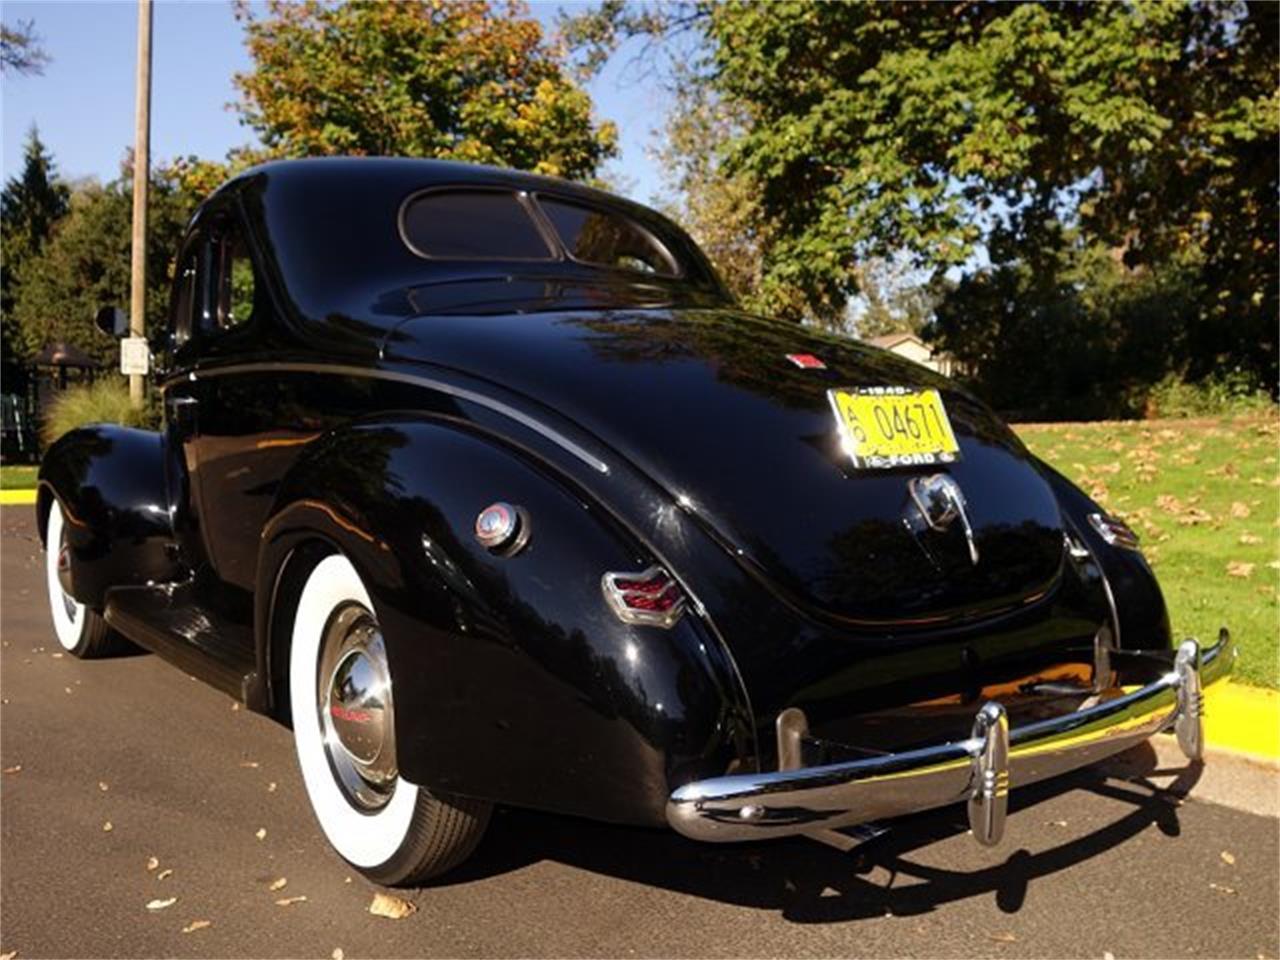
[{"label": "tree with yellow-orange autumn leaves rising behind the car roof", "polygon": [[253,69],[238,109],[274,156],[408,155],[588,178],[613,124],[517,3],[237,8]]}]

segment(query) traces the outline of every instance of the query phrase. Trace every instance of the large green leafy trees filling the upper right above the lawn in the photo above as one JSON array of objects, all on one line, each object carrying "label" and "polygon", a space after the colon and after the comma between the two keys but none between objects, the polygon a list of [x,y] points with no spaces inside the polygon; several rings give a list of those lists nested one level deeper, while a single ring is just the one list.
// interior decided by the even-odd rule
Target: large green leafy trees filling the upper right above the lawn
[{"label": "large green leafy trees filling the upper right above the lawn", "polygon": [[589,68],[698,37],[687,63],[739,118],[698,147],[755,204],[754,305],[836,326],[877,259],[963,273],[934,329],[978,385],[1083,410],[1170,371],[1276,389],[1277,10],[605,3],[568,36]]}]

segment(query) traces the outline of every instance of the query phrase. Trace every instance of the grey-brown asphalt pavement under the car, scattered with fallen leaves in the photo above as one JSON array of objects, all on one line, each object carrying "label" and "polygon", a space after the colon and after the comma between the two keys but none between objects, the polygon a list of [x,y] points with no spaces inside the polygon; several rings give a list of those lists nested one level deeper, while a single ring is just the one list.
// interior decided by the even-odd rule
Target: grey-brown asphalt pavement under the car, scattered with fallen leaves
[{"label": "grey-brown asphalt pavement under the car, scattered with fallen leaves", "polygon": [[[312,820],[288,731],[156,657],[59,655],[32,509],[5,508],[0,526],[5,956],[1280,952],[1277,820],[1238,809],[1272,809],[1277,774],[1219,758],[1166,769],[1151,748],[1111,777],[1015,792],[995,850],[959,809],[847,855],[503,810],[466,867],[404,893],[413,915],[372,916],[375,887]],[[193,920],[210,924],[183,933]]]}]

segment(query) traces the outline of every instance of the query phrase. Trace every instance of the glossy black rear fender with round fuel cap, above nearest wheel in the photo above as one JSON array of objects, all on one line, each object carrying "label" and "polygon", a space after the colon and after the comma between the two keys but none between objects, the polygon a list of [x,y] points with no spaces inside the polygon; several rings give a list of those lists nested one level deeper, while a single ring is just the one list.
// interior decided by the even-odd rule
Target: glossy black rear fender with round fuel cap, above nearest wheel
[{"label": "glossy black rear fender with round fuel cap, above nearest wheel", "polygon": [[[475,540],[495,500],[527,515],[515,556]],[[671,790],[751,755],[746,694],[699,616],[639,627],[605,604],[602,575],[639,572],[652,553],[497,435],[403,415],[308,445],[282,481],[257,566],[260,667],[276,705],[298,571],[325,549],[347,554],[376,608],[411,782],[660,826]]]}]

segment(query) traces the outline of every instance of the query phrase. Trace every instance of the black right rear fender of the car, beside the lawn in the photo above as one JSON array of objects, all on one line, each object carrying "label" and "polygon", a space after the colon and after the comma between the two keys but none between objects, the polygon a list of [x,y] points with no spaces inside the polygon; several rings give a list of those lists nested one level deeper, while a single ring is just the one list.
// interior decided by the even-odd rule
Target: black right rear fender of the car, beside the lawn
[{"label": "black right rear fender of the car, beside the lawn", "polygon": [[1044,461],[1037,461],[1037,465],[1053,488],[1062,513],[1102,568],[1120,626],[1119,645],[1133,650],[1172,649],[1169,608],[1147,558],[1137,550],[1112,547],[1103,540],[1088,516],[1106,513],[1106,508]]}]

